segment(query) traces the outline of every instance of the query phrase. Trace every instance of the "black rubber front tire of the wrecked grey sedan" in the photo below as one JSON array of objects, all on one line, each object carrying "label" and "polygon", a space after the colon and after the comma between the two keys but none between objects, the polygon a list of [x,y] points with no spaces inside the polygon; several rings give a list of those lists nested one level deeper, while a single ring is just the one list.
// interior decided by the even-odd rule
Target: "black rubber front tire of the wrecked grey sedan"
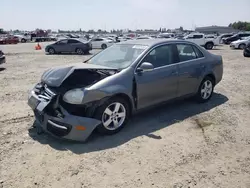
[{"label": "black rubber front tire of the wrecked grey sedan", "polygon": [[[114,128],[113,130],[110,130],[107,127],[105,127],[104,124],[103,124],[103,120],[107,116],[107,114],[105,114],[104,112],[108,107],[111,108],[113,104],[114,104],[114,107],[115,107],[115,103],[119,103],[119,104],[123,105],[123,107],[125,109],[125,119],[124,119],[123,123],[120,126],[118,126],[117,128]],[[112,111],[113,115],[115,113],[114,111],[115,111],[115,109]],[[115,134],[115,133],[119,132],[127,124],[128,120],[129,120],[129,117],[130,117],[130,114],[131,114],[131,109],[130,109],[130,105],[127,102],[127,100],[125,100],[122,97],[114,97],[114,98],[108,99],[101,106],[99,106],[98,109],[95,112],[94,117],[96,119],[99,119],[100,121],[102,121],[102,123],[97,127],[97,131],[99,133],[101,133],[101,134],[104,134],[104,135],[112,135],[112,134]],[[110,117],[111,116],[109,116],[109,118]],[[117,120],[119,121],[119,118]],[[111,122],[111,124],[114,126],[113,122]],[[112,126],[111,126],[111,128],[112,128]]]}]

